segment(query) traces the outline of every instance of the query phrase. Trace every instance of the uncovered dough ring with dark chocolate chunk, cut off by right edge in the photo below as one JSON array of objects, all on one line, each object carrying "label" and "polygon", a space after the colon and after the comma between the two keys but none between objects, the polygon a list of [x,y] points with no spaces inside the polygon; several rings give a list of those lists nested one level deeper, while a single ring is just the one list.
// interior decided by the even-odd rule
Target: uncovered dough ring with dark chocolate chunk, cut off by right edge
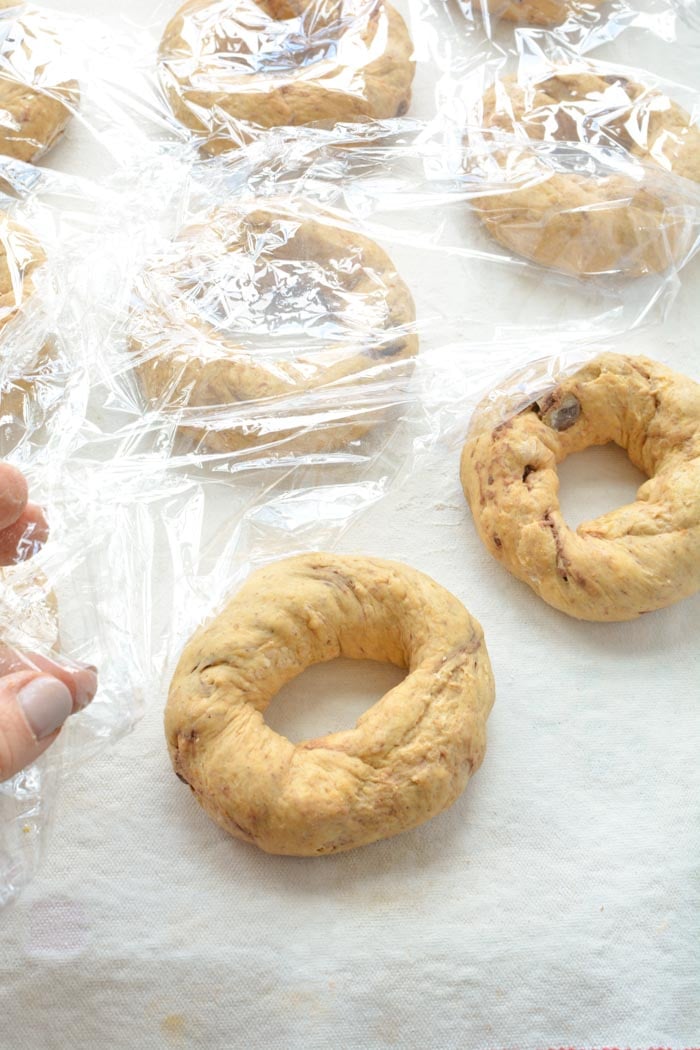
[{"label": "uncovered dough ring with dark chocolate chunk, cut off by right edge", "polygon": [[[557,464],[611,441],[649,481],[571,529]],[[601,354],[513,418],[478,420],[461,472],[488,550],[561,612],[634,620],[700,589],[700,383],[656,361]]]}]

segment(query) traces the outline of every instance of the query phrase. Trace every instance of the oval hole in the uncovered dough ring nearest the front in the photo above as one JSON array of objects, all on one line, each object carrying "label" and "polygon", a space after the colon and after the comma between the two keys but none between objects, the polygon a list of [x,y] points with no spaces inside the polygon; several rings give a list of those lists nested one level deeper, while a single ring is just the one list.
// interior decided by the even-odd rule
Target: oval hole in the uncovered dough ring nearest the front
[{"label": "oval hole in the uncovered dough ring nearest the front", "polygon": [[334,659],[306,668],[273,697],[264,720],[294,743],[352,729],[406,672],[375,660]]}]

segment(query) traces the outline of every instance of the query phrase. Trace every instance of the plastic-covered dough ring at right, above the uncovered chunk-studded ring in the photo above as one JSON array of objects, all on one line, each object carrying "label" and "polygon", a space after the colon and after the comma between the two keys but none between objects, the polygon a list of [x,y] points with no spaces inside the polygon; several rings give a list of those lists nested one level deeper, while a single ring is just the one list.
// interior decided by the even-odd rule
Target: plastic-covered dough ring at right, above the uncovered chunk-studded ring
[{"label": "plastic-covered dough ring at right, above the uncovered chunk-studded ring", "polygon": [[[521,183],[525,173],[530,184],[476,198],[482,223],[518,255],[577,276],[635,277],[681,262],[695,219],[683,208],[682,184],[672,186],[665,172],[700,182],[700,130],[653,88],[568,69],[525,86],[504,77],[484,96],[484,127],[526,140],[617,144],[644,168],[638,177],[550,173],[522,146],[506,147],[495,154],[501,177],[514,172]],[[537,173],[547,177],[533,180]]]}]

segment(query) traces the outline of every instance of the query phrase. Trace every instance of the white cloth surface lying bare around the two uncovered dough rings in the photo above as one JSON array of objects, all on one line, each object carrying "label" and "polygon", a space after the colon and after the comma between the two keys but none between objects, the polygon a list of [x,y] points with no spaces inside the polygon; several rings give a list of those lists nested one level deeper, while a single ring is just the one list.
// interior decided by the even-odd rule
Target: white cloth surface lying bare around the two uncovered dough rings
[{"label": "white cloth surface lying bare around the two uncovered dough rings", "polygon": [[[699,277],[627,349],[698,375]],[[0,918],[3,1050],[699,1045],[700,597],[628,625],[549,609],[482,548],[458,457],[417,463],[341,547],[428,572],[485,627],[497,698],[463,798],[352,854],[268,857],[174,777],[153,696],[65,786]],[[637,481],[610,450],[561,477],[571,522]],[[395,680],[314,669],[270,717],[339,729]]]}]

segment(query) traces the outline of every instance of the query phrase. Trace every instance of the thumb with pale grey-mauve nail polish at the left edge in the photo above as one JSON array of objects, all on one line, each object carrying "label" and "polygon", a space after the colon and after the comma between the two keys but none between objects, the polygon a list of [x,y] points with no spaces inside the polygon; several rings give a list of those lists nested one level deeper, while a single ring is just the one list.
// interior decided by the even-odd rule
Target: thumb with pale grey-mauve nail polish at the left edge
[{"label": "thumb with pale grey-mauve nail polish at the left edge", "polygon": [[72,693],[49,674],[16,671],[1,677],[0,781],[36,761],[72,710]]}]

